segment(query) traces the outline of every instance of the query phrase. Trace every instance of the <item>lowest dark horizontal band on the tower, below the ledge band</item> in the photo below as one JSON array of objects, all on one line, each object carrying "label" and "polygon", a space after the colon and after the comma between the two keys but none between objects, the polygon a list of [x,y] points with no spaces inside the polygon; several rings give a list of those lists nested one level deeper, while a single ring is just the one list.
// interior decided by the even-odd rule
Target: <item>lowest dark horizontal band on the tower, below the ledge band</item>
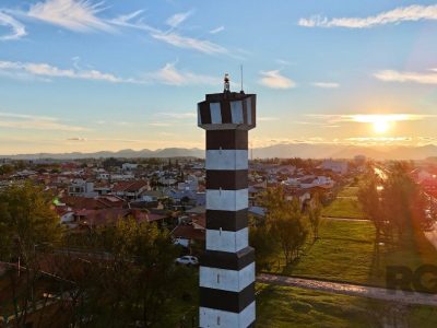
[{"label": "lowest dark horizontal band on the tower, below the ledge band", "polygon": [[200,306],[240,313],[255,301],[255,282],[240,292],[200,288]]}]

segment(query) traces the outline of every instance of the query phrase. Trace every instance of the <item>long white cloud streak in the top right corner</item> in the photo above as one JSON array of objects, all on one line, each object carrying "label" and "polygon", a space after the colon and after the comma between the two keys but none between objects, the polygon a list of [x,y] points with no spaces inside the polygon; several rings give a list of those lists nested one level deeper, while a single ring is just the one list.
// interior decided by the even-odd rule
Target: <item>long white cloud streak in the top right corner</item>
[{"label": "long white cloud streak in the top right corner", "polygon": [[386,24],[397,24],[402,22],[437,20],[437,4],[400,7],[390,11],[367,17],[339,17],[331,19],[315,15],[309,19],[300,19],[298,25],[304,27],[346,27],[346,28],[367,28]]}]

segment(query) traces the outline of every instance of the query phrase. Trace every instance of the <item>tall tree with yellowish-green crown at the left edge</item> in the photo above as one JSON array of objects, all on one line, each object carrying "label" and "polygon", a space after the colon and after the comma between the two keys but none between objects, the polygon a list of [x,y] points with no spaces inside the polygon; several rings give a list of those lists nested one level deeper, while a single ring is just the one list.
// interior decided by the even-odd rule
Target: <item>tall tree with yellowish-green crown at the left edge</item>
[{"label": "tall tree with yellowish-green crown at the left edge", "polygon": [[17,270],[8,271],[16,327],[26,324],[31,306],[35,308],[40,296],[40,259],[61,238],[59,219],[50,203],[50,197],[31,183],[0,192],[0,260],[17,263]]}]

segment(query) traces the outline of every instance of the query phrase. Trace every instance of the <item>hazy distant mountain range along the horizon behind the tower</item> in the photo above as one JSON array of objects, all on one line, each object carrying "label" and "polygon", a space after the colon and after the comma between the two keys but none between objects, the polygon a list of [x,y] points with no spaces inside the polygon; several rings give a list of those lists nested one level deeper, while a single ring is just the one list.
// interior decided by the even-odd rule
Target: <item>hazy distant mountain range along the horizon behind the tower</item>
[{"label": "hazy distant mountain range along the horizon behind the tower", "polygon": [[[428,144],[423,147],[394,147],[394,145],[339,145],[321,143],[281,143],[252,150],[253,159],[269,157],[303,157],[303,159],[353,159],[355,155],[365,155],[375,160],[424,160],[437,156],[437,145]],[[36,159],[107,159],[107,157],[204,157],[204,150],[192,148],[166,148],[158,150],[120,150],[117,152],[102,151],[96,153],[39,153],[21,155],[2,155],[0,159],[36,160]]]}]

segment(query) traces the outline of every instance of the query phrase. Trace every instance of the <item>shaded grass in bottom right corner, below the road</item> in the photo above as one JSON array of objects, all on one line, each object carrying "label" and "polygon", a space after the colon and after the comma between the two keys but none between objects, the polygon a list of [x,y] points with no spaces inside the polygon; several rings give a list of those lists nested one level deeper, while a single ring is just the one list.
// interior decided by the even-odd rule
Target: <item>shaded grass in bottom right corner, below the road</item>
[{"label": "shaded grass in bottom right corner, below the road", "polygon": [[258,284],[257,327],[437,327],[437,308]]}]

